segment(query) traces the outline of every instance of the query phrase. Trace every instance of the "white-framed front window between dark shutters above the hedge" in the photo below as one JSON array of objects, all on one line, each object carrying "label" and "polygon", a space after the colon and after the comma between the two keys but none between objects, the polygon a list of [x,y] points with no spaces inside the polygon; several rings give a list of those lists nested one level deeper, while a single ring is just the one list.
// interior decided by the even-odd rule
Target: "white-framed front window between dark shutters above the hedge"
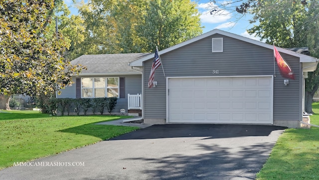
[{"label": "white-framed front window between dark shutters above the hedge", "polygon": [[82,98],[119,97],[119,78],[81,78],[81,92]]}]

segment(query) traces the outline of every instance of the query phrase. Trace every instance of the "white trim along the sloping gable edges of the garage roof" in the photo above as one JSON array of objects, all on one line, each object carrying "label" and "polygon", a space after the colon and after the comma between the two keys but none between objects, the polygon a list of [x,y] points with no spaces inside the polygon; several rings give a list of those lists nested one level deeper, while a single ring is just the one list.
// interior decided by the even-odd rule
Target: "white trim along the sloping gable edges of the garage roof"
[{"label": "white trim along the sloping gable edges of the garage roof", "polygon": [[[206,38],[206,37],[214,35],[214,34],[221,34],[221,35],[232,37],[232,38],[235,38],[235,39],[238,39],[238,40],[242,40],[242,41],[245,41],[245,42],[248,42],[248,43],[251,43],[251,44],[262,46],[262,47],[265,47],[265,48],[268,48],[268,49],[272,49],[272,50],[274,49],[273,45],[266,44],[266,43],[258,41],[258,40],[254,40],[254,39],[251,39],[251,38],[248,38],[248,37],[244,37],[244,36],[241,36],[241,35],[238,35],[238,34],[233,34],[233,33],[230,33],[230,32],[223,31],[223,30],[219,30],[219,29],[213,29],[213,30],[211,30],[209,32],[206,32],[204,34],[201,34],[201,35],[199,35],[197,37],[194,37],[194,38],[189,39],[187,41],[184,41],[184,42],[181,42],[181,43],[176,44],[174,46],[171,46],[171,47],[168,47],[166,49],[163,49],[159,53],[161,55],[165,54],[167,52],[170,52],[172,50],[175,50],[177,48],[183,47],[185,45],[188,45],[190,43],[193,43],[195,41],[198,41],[200,39]],[[300,58],[300,62],[316,62],[317,61],[317,58],[315,58],[315,57],[311,57],[311,56],[308,56],[308,55],[305,55],[305,54],[300,54],[300,53],[297,53],[297,52],[294,52],[294,51],[291,51],[291,50],[288,50],[288,49],[277,47],[277,50],[279,52],[283,52],[283,53],[286,53],[286,54],[289,54],[289,55],[292,55],[292,56],[299,57]],[[135,61],[131,62],[130,66],[143,66],[143,62],[144,61],[152,59],[153,57],[154,57],[154,53],[152,53],[150,55],[147,55],[147,56],[145,56],[145,57],[143,57],[141,59],[138,59],[138,60],[135,60]]]}]

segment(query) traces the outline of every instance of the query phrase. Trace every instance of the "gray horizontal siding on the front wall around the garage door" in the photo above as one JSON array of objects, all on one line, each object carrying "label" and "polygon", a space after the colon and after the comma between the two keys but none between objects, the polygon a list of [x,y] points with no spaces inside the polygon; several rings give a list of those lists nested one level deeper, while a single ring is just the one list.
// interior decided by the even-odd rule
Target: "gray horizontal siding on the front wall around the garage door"
[{"label": "gray horizontal siding on the front wall around the garage door", "polygon": [[[212,53],[212,37],[223,37],[223,52]],[[295,80],[284,86],[277,64],[274,77],[274,121],[300,120],[301,113],[301,63],[299,58],[281,55],[295,72]],[[160,54],[166,77],[180,76],[254,76],[274,75],[273,50],[235,38],[214,34],[181,48]],[[166,119],[166,80],[161,67],[156,70],[156,88],[148,88],[152,59],[144,62],[145,118]],[[218,70],[219,74],[212,74]]]}]

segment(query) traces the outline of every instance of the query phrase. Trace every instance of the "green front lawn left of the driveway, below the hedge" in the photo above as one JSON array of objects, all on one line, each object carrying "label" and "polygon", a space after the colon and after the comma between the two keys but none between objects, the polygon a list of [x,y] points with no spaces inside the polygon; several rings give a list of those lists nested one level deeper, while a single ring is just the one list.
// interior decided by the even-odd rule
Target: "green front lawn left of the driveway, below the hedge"
[{"label": "green front lawn left of the driveway, below the hedge", "polygon": [[110,139],[139,128],[95,125],[127,116],[49,116],[0,111],[0,169]]}]

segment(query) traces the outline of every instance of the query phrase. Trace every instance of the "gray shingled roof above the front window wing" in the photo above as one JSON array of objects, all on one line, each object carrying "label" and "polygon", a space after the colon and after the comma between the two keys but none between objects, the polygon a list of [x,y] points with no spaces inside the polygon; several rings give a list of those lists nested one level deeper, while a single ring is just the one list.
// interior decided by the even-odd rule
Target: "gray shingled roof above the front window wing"
[{"label": "gray shingled roof above the front window wing", "polygon": [[[82,64],[87,70],[82,70],[81,74],[134,74],[138,71],[132,69],[128,63],[147,56],[151,53],[125,53],[125,54],[92,54],[82,55],[71,64]],[[138,69],[142,71],[142,69]]]}]

